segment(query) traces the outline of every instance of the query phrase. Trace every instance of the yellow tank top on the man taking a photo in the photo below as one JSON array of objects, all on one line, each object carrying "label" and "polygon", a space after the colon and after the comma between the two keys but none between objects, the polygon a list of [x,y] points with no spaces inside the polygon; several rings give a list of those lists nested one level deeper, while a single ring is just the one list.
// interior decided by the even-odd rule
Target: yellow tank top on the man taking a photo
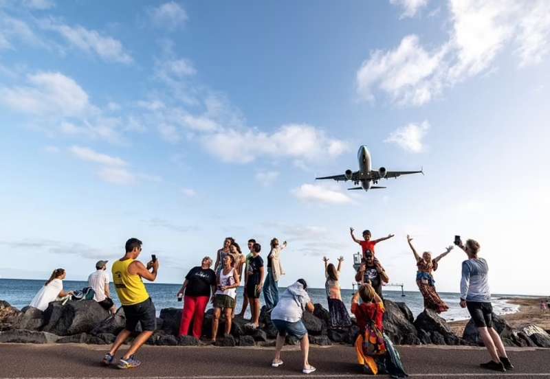
[{"label": "yellow tank top on the man taking a photo", "polygon": [[134,260],[118,260],[113,263],[113,283],[115,284],[118,299],[123,306],[133,306],[142,303],[149,298],[140,275],[131,275],[128,273],[128,266]]}]

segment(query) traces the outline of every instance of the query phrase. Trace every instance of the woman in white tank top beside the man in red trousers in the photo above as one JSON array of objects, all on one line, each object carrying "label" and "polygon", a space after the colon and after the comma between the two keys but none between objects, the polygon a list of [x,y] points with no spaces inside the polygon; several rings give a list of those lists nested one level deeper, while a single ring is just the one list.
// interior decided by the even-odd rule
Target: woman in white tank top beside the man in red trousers
[{"label": "woman in white tank top beside the man in red trousers", "polygon": [[216,291],[214,297],[214,318],[212,319],[212,342],[218,334],[219,317],[221,310],[225,314],[225,336],[231,332],[231,314],[236,304],[236,288],[241,284],[239,273],[234,269],[234,257],[225,255],[223,267],[216,277]]}]

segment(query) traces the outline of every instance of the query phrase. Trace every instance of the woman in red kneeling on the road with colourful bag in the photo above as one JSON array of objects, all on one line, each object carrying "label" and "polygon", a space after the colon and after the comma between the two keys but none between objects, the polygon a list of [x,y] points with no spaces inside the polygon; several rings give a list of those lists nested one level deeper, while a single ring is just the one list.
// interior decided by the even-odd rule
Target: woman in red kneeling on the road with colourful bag
[{"label": "woman in red kneeling on the road with colourful bag", "polygon": [[[362,303],[359,303],[359,299]],[[399,353],[384,334],[384,303],[371,284],[360,286],[351,299],[360,330],[355,340],[358,363],[366,374],[390,374],[392,378],[407,376]]]}]

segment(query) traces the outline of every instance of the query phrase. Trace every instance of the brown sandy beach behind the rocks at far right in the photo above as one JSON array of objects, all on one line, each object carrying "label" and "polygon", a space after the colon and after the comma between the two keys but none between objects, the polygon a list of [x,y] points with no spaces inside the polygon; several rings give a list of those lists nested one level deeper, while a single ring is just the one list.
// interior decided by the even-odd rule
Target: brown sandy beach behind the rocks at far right
[{"label": "brown sandy beach behind the rocks at far right", "polygon": [[[509,303],[520,306],[520,310],[512,314],[503,314],[503,318],[514,328],[532,323],[548,331],[550,330],[550,311],[542,313],[540,310],[541,300],[546,301],[547,298],[508,299]],[[462,336],[467,322],[468,320],[450,321],[449,325],[457,336]]]}]

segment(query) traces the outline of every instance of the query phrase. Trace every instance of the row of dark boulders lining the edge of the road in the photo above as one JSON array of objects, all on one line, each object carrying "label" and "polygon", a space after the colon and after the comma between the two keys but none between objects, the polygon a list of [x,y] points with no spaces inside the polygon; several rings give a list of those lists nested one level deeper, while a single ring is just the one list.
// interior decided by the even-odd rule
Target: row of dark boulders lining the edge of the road
[{"label": "row of dark boulders lining the edge of the road", "polygon": [[[415,319],[405,303],[384,301],[386,314],[384,329],[397,345],[481,345],[473,323],[465,325],[463,334],[454,334],[450,325],[432,310],[424,310]],[[157,318],[157,330],[147,341],[149,345],[206,345],[210,337],[212,310],[206,312],[203,322],[203,338],[178,336],[181,308],[164,308]],[[512,328],[503,317],[494,314],[495,329],[507,346],[550,347],[550,335],[534,324]],[[352,345],[359,333],[358,327],[328,328],[329,312],[315,304],[313,314],[305,312],[303,321],[314,345]],[[220,320],[223,330],[225,320]],[[277,334],[270,314],[261,312],[261,328],[246,328],[248,320],[233,319],[229,336],[220,336],[219,346],[274,346]],[[93,300],[69,301],[64,306],[54,301],[41,312],[36,308],[18,310],[6,301],[0,301],[0,343],[87,343],[105,345],[113,343],[116,334],[124,328],[124,310],[120,308],[114,317]],[[287,337],[287,344],[296,345],[296,338]]]}]

